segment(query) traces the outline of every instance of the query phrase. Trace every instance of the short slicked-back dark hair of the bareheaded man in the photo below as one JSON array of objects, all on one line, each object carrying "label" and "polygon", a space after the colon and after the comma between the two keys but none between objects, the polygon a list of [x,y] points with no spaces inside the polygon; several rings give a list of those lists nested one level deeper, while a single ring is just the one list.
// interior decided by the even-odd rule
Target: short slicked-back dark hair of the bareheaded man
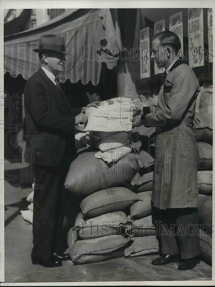
[{"label": "short slicked-back dark hair of the bareheaded man", "polygon": [[171,31],[163,31],[155,34],[152,41],[158,39],[161,46],[170,46],[176,53],[181,49],[181,41],[179,37]]}]

